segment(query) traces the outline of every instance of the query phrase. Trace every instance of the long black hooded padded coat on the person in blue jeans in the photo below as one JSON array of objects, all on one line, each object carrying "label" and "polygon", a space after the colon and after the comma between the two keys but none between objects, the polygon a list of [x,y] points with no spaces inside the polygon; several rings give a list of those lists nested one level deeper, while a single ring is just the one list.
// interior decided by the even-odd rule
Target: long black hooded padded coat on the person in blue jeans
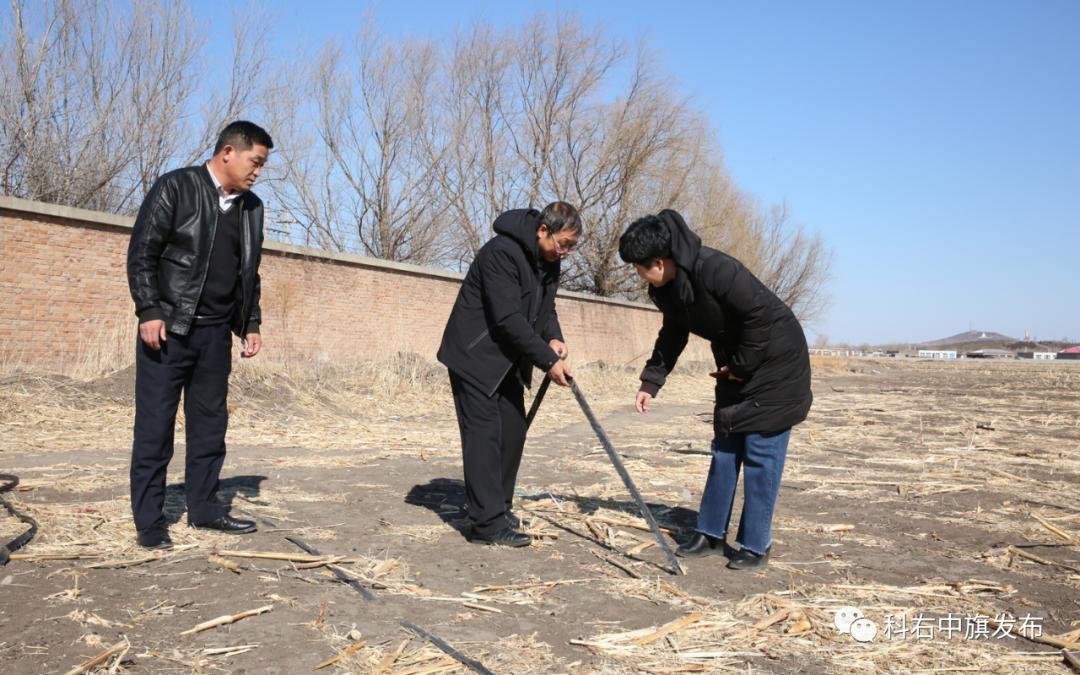
[{"label": "long black hooded padded coat on the person in blue jeans", "polygon": [[779,432],[805,420],[813,401],[810,354],[795,314],[742,262],[702,246],[678,213],[662,211],[660,219],[678,271],[649,287],[663,326],[642,389],[654,395],[663,387],[692,333],[708,340],[717,369],[743,380],[717,380],[716,433]]}]

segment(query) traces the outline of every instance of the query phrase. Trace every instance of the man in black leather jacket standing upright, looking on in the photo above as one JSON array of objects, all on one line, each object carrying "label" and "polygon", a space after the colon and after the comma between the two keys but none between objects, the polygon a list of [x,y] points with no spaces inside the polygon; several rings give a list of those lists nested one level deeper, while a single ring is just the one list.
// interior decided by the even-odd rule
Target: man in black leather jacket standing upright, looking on
[{"label": "man in black leather jacket standing upright, looking on", "polygon": [[127,247],[127,284],[139,339],[131,491],[138,543],[172,545],[164,519],[165,472],[180,393],[187,420],[188,524],[230,534],[255,530],[217,501],[225,460],[232,334],[242,357],[259,352],[262,202],[251,192],[273,140],[232,122],[214,157],[161,176],[139,207]]}]

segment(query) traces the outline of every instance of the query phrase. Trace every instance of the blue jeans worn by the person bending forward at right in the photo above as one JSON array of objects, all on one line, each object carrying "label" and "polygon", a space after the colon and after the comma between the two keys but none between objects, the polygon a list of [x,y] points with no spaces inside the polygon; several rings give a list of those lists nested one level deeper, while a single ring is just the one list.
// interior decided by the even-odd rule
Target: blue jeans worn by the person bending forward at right
[{"label": "blue jeans worn by the person bending forward at right", "polygon": [[732,433],[713,438],[713,462],[701,496],[698,531],[724,539],[743,470],[743,512],[735,541],[757,554],[772,545],[772,512],[780,494],[787,441],[792,430],[778,433]]}]

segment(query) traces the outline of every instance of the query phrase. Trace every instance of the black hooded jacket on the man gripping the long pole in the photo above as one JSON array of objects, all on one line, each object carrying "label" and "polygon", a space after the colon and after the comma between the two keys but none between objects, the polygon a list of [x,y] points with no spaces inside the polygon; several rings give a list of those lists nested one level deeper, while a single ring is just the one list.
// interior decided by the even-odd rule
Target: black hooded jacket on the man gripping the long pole
[{"label": "black hooded jacket on the man gripping the long pole", "polygon": [[559,264],[540,258],[536,210],[508,211],[495,220],[461,283],[443,332],[438,361],[491,396],[516,368],[530,386],[532,367],[548,370],[563,339],[555,313]]}]

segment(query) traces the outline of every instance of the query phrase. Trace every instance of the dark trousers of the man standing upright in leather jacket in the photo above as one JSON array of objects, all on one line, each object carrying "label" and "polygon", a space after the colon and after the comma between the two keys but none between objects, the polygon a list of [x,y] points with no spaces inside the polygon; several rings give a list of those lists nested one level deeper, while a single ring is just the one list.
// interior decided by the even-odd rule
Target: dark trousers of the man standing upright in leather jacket
[{"label": "dark trousers of the man standing upright in leather jacket", "polygon": [[173,458],[176,410],[184,393],[187,456],[184,486],[188,518],[205,523],[225,514],[217,501],[229,426],[229,324],[192,326],[188,335],[168,334],[161,350],[136,338],[135,440],[132,444],[132,512],[135,527],[157,523],[165,508],[165,473]]}]

